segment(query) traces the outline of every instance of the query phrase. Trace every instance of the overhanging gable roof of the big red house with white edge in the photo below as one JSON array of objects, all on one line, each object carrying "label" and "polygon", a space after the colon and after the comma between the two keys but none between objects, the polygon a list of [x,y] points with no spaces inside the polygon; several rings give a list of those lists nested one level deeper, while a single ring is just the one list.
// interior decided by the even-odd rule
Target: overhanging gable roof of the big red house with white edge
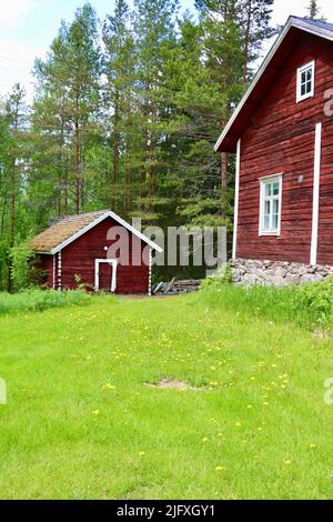
[{"label": "overhanging gable roof of the big red house with white edge", "polygon": [[235,152],[236,142],[246,129],[252,114],[262,101],[271,82],[279,74],[285,58],[294,49],[295,43],[304,32],[333,41],[333,23],[290,17],[216,141],[214,147],[216,152]]}]

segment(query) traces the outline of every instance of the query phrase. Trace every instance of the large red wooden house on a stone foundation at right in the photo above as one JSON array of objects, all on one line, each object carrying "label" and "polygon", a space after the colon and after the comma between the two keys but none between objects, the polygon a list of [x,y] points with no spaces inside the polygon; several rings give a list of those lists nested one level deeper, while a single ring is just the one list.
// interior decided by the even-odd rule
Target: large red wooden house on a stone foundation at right
[{"label": "large red wooden house on a stone foundation at right", "polygon": [[333,24],[290,17],[215,144],[236,153],[238,281],[333,272],[332,116]]}]

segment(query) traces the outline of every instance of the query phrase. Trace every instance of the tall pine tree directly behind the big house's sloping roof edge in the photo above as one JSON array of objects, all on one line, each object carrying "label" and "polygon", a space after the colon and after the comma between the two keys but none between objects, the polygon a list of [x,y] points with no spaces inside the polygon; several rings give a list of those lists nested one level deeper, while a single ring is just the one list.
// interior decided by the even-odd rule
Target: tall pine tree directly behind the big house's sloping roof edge
[{"label": "tall pine tree directly behind the big house's sloping roof edge", "polygon": [[[251,64],[262,42],[273,34],[270,19],[274,0],[196,0],[204,28],[205,56],[223,100],[221,128],[251,78]],[[221,187],[228,189],[228,155],[221,153]]]}]

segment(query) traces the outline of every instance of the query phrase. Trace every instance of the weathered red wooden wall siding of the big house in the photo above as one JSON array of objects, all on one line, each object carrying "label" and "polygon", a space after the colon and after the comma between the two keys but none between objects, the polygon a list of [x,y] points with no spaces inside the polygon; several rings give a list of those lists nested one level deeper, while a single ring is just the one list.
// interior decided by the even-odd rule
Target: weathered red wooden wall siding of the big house
[{"label": "weathered red wooden wall siding of the big house", "polygon": [[[313,59],[315,96],[296,103],[296,69]],[[322,122],[317,262],[333,264],[333,119],[324,116],[330,88],[333,43],[304,33],[242,135],[238,257],[310,262],[315,124]],[[259,180],[281,172],[281,237],[259,237]]]}]

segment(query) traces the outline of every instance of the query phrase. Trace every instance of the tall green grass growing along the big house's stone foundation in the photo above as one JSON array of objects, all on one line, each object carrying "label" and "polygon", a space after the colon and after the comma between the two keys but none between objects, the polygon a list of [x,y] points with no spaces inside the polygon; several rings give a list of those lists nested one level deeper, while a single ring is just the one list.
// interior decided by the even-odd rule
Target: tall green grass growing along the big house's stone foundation
[{"label": "tall green grass growing along the big house's stone foundation", "polygon": [[296,322],[305,328],[329,328],[333,312],[333,279],[283,288],[246,288],[211,280],[203,284],[200,299],[211,307],[235,313],[251,313],[275,322]]}]

